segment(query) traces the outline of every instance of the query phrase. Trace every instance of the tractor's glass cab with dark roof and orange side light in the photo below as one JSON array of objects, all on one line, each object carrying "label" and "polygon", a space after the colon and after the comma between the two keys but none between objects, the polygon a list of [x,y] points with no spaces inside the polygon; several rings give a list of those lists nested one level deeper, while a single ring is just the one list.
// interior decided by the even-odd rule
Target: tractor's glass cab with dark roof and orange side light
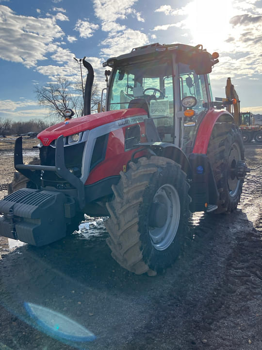
[{"label": "tractor's glass cab with dark roof and orange side light", "polygon": [[212,101],[208,73],[217,63],[200,45],[152,44],[110,58],[106,110],[143,108],[158,140],[192,151],[197,125]]}]

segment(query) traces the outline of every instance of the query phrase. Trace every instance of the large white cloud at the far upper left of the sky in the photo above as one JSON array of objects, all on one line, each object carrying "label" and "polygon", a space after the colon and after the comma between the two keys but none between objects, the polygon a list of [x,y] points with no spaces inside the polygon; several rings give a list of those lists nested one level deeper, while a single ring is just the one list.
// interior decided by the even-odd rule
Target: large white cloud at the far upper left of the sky
[{"label": "large white cloud at the far upper left of the sky", "polygon": [[0,5],[0,58],[33,67],[55,51],[64,32],[54,18],[18,16],[9,7]]}]

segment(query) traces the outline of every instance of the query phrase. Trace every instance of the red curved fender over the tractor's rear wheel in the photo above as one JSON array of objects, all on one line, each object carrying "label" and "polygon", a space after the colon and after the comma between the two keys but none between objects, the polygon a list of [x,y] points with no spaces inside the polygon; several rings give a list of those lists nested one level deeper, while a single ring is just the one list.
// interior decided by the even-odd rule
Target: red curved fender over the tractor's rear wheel
[{"label": "red curved fender over the tractor's rear wheel", "polygon": [[193,153],[207,154],[209,140],[215,123],[234,123],[234,118],[228,111],[210,109],[199,125]]}]

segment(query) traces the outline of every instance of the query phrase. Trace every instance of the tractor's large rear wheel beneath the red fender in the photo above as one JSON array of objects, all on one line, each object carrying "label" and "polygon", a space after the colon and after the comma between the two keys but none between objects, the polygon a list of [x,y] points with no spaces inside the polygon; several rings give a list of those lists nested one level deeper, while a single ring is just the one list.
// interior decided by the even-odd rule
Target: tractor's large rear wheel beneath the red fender
[{"label": "tractor's large rear wheel beneath the red fender", "polygon": [[244,182],[236,175],[239,162],[244,160],[244,144],[239,130],[232,124],[215,125],[207,156],[219,192],[218,208],[212,213],[231,212],[240,201]]}]

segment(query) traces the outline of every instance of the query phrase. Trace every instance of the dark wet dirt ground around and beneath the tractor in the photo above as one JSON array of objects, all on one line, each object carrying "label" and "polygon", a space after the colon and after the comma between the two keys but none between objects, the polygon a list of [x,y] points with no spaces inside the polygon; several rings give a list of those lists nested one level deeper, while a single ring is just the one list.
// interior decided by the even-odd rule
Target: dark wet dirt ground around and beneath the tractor
[{"label": "dark wet dirt ground around and beneath the tractor", "polygon": [[[4,142],[0,198],[13,177]],[[238,209],[194,214],[180,259],[163,275],[118,266],[103,219],[87,218],[78,233],[42,248],[0,237],[0,350],[262,350],[262,145],[246,146],[246,162]],[[32,318],[25,303],[66,316],[69,333],[76,321],[96,339],[47,335],[39,324],[46,309]]]}]

